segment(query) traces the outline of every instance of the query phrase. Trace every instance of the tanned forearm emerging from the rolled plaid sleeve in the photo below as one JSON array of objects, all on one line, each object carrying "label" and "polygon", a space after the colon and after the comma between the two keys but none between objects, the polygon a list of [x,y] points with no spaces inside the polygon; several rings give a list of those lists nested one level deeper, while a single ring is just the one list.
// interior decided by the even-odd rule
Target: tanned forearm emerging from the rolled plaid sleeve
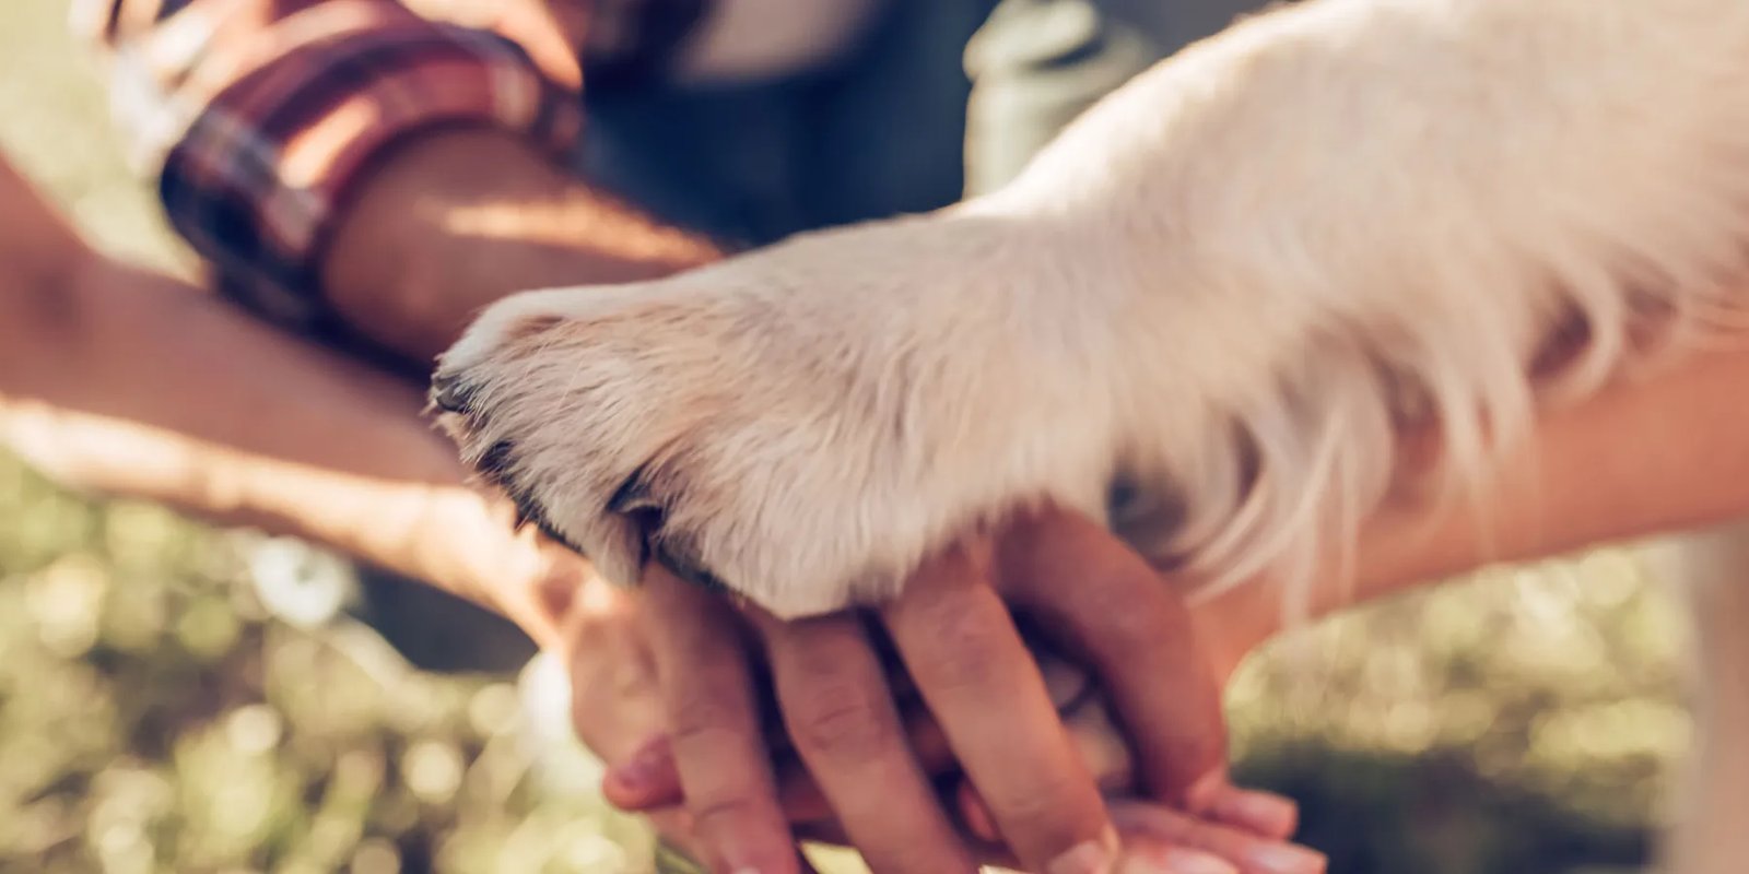
[{"label": "tanned forearm emerging from the rolled plaid sleeve", "polygon": [[507,294],[647,280],[714,257],[514,136],[449,131],[397,150],[364,184],[322,285],[353,327],[429,362]]}]

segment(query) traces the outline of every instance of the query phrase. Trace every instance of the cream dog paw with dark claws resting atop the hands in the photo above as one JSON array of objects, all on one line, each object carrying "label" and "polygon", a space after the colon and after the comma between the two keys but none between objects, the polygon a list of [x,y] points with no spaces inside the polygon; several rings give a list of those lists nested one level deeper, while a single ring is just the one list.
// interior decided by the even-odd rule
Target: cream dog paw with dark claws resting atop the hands
[{"label": "cream dog paw with dark claws resting atop the hands", "polygon": [[1072,281],[1041,283],[1051,245],[941,213],[528,292],[432,397],[465,458],[616,580],[656,559],[785,617],[876,601],[1018,507],[1104,510],[1116,386],[1088,362],[1112,343],[1063,306]]}]

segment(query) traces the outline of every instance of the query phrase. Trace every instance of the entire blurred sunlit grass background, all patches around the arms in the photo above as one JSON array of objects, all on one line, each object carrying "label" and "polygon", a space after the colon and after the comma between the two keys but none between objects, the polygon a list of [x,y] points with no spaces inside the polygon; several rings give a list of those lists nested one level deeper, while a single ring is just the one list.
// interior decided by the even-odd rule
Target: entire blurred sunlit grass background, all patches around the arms
[{"label": "entire blurred sunlit grass background, all patches around the arms", "polygon": [[[63,16],[0,7],[0,145],[110,252],[185,264]],[[0,871],[649,869],[512,678],[276,622],[247,549],[0,458]],[[1632,871],[1688,741],[1681,640],[1630,551],[1399,598],[1240,673],[1240,771],[1338,872]]]}]

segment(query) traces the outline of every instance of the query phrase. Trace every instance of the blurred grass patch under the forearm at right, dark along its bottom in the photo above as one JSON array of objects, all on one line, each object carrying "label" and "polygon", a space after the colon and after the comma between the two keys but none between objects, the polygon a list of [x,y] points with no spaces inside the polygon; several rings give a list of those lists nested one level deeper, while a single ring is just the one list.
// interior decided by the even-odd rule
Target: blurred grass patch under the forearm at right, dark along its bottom
[{"label": "blurred grass patch under the forearm at right, dark along its bottom", "polygon": [[1688,746],[1684,635],[1632,551],[1355,610],[1235,678],[1240,773],[1336,872],[1634,871]]}]

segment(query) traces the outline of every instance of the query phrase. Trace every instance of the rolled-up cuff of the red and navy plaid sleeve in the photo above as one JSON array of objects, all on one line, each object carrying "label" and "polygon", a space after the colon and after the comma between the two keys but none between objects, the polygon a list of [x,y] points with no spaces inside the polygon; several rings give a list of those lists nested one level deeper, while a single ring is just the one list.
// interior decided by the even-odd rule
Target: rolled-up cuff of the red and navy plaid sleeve
[{"label": "rolled-up cuff of the red and navy plaid sleeve", "polygon": [[575,94],[495,33],[387,3],[324,3],[275,30],[273,63],[213,94],[159,177],[182,236],[275,320],[320,327],[322,248],[387,147],[448,124],[498,126],[554,152],[577,135]]}]

